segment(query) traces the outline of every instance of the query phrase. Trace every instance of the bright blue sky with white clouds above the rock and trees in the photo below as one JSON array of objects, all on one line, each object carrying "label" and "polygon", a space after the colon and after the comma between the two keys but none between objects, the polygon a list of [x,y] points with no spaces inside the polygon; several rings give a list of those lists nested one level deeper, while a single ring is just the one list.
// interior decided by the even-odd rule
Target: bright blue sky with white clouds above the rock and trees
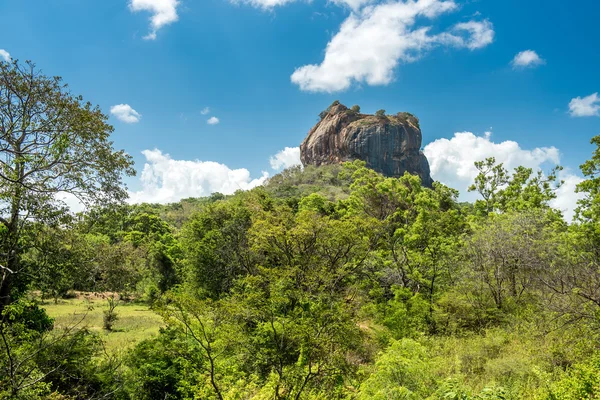
[{"label": "bright blue sky with white clouds above the rock and trees", "polygon": [[416,114],[434,178],[461,190],[489,155],[559,161],[574,184],[600,134],[594,0],[3,0],[0,15],[0,56],[135,110],[111,123],[140,201],[259,183],[336,99]]}]

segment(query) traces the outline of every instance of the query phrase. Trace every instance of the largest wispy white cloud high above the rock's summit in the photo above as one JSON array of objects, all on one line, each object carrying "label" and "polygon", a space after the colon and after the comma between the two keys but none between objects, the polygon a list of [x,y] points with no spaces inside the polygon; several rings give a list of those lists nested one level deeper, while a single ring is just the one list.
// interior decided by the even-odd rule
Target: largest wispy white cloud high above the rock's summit
[{"label": "largest wispy white cloud high above the rock's summit", "polygon": [[297,68],[291,76],[300,89],[336,92],[353,83],[386,85],[394,79],[400,62],[419,59],[435,46],[475,50],[493,41],[489,21],[469,21],[450,30],[430,34],[430,27],[415,26],[458,9],[452,0],[417,0],[382,3],[352,13],[325,49],[320,64]]}]

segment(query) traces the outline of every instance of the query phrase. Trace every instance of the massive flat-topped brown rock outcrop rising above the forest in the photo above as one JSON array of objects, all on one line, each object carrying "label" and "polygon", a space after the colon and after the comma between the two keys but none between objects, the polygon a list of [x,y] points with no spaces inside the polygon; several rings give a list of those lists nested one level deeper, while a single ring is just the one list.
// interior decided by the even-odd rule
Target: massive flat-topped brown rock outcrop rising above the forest
[{"label": "massive flat-topped brown rock outcrop rising above the forest", "polygon": [[405,171],[431,186],[429,162],[421,149],[419,120],[409,113],[376,116],[360,114],[334,103],[300,145],[304,165],[363,160],[386,176]]}]

